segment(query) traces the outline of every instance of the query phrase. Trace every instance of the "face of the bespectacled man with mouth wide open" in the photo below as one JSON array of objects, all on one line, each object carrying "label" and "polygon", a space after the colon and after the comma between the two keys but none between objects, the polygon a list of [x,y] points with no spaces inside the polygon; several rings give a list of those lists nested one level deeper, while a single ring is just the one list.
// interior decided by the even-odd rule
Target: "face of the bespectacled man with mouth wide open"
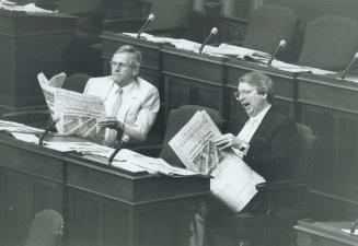
[{"label": "face of the bespectacled man with mouth wide open", "polygon": [[267,94],[257,94],[257,87],[247,83],[239,84],[239,102],[250,117],[256,116],[267,105]]}]

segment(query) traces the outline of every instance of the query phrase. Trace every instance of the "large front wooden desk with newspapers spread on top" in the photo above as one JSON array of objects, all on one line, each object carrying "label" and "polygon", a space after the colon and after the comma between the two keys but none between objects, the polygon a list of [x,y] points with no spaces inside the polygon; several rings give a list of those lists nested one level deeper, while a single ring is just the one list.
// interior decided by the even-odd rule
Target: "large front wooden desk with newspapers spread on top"
[{"label": "large front wooden desk with newspapers spread on top", "polygon": [[65,219],[63,245],[186,245],[209,179],[129,173],[0,136],[0,245],[23,245],[34,214]]}]

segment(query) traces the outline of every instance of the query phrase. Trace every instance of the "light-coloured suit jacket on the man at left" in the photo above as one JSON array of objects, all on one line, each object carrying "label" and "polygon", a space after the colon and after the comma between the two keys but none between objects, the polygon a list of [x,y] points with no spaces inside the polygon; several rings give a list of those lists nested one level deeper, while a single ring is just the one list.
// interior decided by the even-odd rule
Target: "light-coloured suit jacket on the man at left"
[{"label": "light-coloured suit jacket on the man at left", "polygon": [[[92,78],[88,81],[84,94],[100,96],[106,99],[113,85],[111,77]],[[129,142],[146,140],[153,126],[160,106],[159,93],[155,86],[143,79],[137,82],[124,95],[117,119],[125,124],[124,134]]]}]

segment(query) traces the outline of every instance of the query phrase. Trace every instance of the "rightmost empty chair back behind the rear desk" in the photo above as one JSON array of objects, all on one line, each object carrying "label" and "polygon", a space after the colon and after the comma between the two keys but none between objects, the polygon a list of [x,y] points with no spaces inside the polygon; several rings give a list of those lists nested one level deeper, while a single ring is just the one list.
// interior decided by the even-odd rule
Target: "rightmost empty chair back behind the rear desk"
[{"label": "rightmost empty chair back behind the rear desk", "polygon": [[308,23],[299,65],[338,71],[358,50],[358,24],[340,16],[321,16]]}]

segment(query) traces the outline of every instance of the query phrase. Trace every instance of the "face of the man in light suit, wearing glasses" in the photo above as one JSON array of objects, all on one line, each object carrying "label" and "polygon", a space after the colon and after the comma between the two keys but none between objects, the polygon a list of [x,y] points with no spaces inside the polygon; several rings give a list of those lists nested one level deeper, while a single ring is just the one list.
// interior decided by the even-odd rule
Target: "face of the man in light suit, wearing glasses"
[{"label": "face of the man in light suit, wearing glasses", "polygon": [[131,59],[129,52],[118,52],[112,58],[112,79],[119,86],[126,86],[137,75],[136,69],[130,66]]}]

